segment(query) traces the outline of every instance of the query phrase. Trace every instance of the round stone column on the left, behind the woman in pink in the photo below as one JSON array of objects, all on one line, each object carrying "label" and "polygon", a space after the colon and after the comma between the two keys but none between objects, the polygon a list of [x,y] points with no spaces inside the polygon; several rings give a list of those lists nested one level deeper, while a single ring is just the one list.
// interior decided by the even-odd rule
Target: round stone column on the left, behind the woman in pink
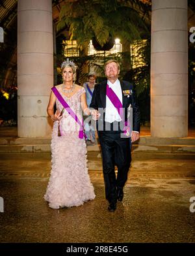
[{"label": "round stone column on the left, behind the woman in pink", "polygon": [[51,135],[46,108],[52,86],[52,1],[18,0],[18,136]]}]

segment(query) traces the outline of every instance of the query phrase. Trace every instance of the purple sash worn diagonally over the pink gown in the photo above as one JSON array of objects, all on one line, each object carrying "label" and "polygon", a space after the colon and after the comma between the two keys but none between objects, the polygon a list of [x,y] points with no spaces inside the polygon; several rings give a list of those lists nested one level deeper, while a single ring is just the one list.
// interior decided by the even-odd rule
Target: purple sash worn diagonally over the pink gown
[{"label": "purple sash worn diagonally over the pink gown", "polygon": [[[60,103],[62,104],[62,106],[64,106],[64,109],[66,109],[66,111],[68,112],[68,114],[70,114],[70,116],[72,116],[72,118],[79,123],[80,125],[80,129],[79,129],[79,138],[83,138],[83,136],[85,136],[85,134],[83,133],[83,123],[81,123],[81,121],[79,120],[79,118],[77,117],[77,115],[73,112],[73,110],[70,108],[70,106],[68,105],[68,103],[66,103],[66,101],[63,99],[62,95],[60,95],[59,91],[57,90],[57,88],[55,88],[55,86],[53,88],[51,88],[51,90],[53,91],[53,93],[55,94],[55,96],[57,97],[57,99],[60,101]],[[83,122],[83,120],[82,120]]]}]

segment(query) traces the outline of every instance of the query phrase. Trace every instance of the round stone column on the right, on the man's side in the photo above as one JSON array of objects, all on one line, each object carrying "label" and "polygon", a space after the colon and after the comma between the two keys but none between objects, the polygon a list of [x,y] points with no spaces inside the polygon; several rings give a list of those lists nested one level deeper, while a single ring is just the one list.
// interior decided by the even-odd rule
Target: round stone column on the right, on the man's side
[{"label": "round stone column on the right, on the man's side", "polygon": [[187,135],[187,0],[152,0],[151,136]]}]

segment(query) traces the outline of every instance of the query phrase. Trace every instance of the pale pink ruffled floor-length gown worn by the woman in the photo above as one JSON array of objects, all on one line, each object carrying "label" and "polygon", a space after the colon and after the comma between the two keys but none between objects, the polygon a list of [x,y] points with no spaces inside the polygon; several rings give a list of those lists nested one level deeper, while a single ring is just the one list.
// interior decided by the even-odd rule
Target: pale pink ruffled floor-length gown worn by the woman
[{"label": "pale pink ruffled floor-length gown worn by the woman", "polygon": [[[70,98],[63,96],[80,121],[83,93],[85,89],[81,88]],[[56,104],[61,111],[63,106],[58,99]],[[58,136],[58,129],[59,121],[55,121],[51,138],[51,176],[44,195],[53,209],[80,206],[96,197],[88,175],[85,139],[79,138],[79,125],[66,110],[60,120],[62,136]]]}]

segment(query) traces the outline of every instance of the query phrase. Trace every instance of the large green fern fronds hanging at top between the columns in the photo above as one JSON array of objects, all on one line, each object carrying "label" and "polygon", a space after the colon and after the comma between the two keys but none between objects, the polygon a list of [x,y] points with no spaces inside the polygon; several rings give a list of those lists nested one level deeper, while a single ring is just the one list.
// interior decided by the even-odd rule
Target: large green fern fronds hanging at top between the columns
[{"label": "large green fern fronds hanging at top between the columns", "polygon": [[101,46],[109,35],[127,40],[140,39],[140,33],[148,31],[143,14],[140,14],[143,7],[145,5],[138,0],[67,2],[60,10],[57,29],[60,31],[68,26],[70,39],[76,39],[81,48],[92,37],[96,37]]}]

